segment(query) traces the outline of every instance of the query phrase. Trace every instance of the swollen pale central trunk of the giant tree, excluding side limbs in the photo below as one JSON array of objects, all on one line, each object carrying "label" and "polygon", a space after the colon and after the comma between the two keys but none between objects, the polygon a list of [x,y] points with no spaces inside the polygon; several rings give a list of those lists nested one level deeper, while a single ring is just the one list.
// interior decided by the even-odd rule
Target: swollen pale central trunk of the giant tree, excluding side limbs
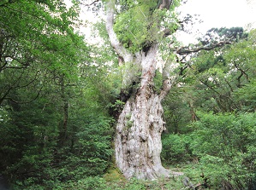
[{"label": "swollen pale central trunk of the giant tree, excluding side limbs", "polygon": [[[116,125],[116,164],[127,178],[170,176],[161,164],[161,134],[165,130],[161,99],[153,89],[157,45],[142,56],[140,86],[126,101]],[[168,89],[167,89],[168,90]]]}]

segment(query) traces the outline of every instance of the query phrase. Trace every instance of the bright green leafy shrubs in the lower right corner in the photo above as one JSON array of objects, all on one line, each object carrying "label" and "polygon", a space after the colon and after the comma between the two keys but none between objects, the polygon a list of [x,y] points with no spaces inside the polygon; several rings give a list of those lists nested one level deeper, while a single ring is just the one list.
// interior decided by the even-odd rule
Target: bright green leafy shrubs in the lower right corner
[{"label": "bright green leafy shrubs in the lower right corner", "polygon": [[200,118],[192,124],[190,146],[205,176],[215,187],[250,189],[255,176],[255,113],[208,113]]}]

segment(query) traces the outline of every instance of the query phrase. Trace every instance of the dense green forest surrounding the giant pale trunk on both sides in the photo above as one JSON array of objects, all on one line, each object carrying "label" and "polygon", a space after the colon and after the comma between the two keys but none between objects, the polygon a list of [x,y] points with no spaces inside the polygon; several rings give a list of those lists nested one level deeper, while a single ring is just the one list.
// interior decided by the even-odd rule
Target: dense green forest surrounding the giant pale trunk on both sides
[{"label": "dense green forest surrounding the giant pale trunk on both sides", "polygon": [[75,32],[79,12],[57,0],[0,3],[0,189],[256,189],[256,31],[213,28],[200,44],[232,43],[179,57],[161,157],[184,175],[127,181],[113,137],[128,68],[102,24],[102,46]]}]

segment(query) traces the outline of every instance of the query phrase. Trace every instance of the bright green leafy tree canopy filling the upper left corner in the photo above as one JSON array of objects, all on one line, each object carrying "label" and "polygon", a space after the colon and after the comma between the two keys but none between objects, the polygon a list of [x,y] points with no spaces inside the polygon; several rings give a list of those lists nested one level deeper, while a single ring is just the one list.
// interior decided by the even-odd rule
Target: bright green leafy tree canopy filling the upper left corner
[{"label": "bright green leafy tree canopy filling the upper left corner", "polygon": [[66,64],[77,63],[75,47],[85,49],[74,33],[77,5],[66,9],[62,1],[3,1],[0,13],[0,104],[15,89],[44,83],[40,74],[48,78],[57,69],[65,72]]}]

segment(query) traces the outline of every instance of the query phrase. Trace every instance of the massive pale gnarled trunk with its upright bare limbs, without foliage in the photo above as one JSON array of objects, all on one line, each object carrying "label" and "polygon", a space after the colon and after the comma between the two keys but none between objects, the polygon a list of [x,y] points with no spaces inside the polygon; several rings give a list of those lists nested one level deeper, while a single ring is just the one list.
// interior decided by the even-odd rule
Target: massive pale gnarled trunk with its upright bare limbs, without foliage
[{"label": "massive pale gnarled trunk with its upright bare limbs, without foliage", "polygon": [[[161,164],[161,134],[165,130],[161,101],[168,94],[170,71],[164,70],[163,87],[159,93],[154,89],[153,78],[157,69],[158,43],[148,49],[131,54],[122,46],[113,30],[115,1],[107,3],[106,28],[110,43],[125,63],[140,68],[140,82],[136,84],[125,102],[116,125],[115,151],[116,165],[128,179],[156,179],[160,176],[175,175]],[[165,69],[170,65],[165,64]],[[127,76],[133,73],[129,73]],[[126,85],[129,80],[123,78]]]}]

